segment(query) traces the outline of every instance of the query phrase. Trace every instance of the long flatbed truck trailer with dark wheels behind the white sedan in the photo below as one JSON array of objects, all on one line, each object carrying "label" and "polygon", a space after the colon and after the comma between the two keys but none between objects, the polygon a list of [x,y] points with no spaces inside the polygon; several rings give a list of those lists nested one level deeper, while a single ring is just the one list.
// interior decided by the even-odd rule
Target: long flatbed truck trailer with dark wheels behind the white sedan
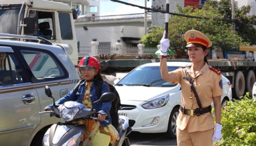
[{"label": "long flatbed truck trailer with dark wheels behind the white sedan", "polygon": [[[254,52],[255,46],[239,46],[238,52]],[[256,53],[254,53],[255,55]],[[100,60],[102,71],[106,74],[113,72],[129,72],[138,65],[159,62],[160,60],[153,54],[150,55],[95,55]],[[255,58],[255,57],[254,57]],[[168,61],[177,61],[169,59]],[[178,61],[188,61],[187,59]],[[222,71],[222,74],[228,78],[232,86],[232,98],[239,99],[246,92],[252,95],[252,89],[255,79],[256,62],[253,57],[246,59],[210,59],[209,65]]]}]

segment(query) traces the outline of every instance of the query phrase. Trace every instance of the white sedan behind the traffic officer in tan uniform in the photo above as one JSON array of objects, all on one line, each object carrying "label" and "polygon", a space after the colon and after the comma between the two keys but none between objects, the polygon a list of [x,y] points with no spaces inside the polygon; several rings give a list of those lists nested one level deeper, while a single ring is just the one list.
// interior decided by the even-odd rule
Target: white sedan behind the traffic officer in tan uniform
[{"label": "white sedan behind the traffic officer in tan uniform", "polygon": [[[189,62],[167,62],[169,71]],[[134,132],[166,133],[176,138],[176,119],[181,105],[181,85],[162,80],[160,63],[140,65],[115,84],[121,99],[119,115],[129,118]],[[231,84],[223,76],[222,102],[232,98]]]}]

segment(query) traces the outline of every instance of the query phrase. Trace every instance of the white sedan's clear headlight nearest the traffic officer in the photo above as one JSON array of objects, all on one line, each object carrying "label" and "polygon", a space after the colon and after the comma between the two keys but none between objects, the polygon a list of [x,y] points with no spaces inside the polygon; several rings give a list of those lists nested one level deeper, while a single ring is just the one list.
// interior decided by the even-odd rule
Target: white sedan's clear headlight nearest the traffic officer
[{"label": "white sedan's clear headlight nearest the traffic officer", "polygon": [[141,105],[145,109],[158,108],[165,106],[168,103],[169,94],[162,96],[160,98],[149,101],[146,104]]}]

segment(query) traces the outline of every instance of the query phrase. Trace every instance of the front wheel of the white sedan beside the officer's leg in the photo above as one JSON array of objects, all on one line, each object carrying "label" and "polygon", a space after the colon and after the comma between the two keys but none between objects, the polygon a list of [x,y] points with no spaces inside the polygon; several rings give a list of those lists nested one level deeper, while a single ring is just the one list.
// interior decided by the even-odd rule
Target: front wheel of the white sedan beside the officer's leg
[{"label": "front wheel of the white sedan beside the officer's leg", "polygon": [[179,114],[179,108],[175,107],[170,115],[170,119],[169,119],[169,123],[168,123],[168,129],[167,129],[167,133],[166,136],[168,138],[176,138],[176,120],[178,118],[178,114]]}]

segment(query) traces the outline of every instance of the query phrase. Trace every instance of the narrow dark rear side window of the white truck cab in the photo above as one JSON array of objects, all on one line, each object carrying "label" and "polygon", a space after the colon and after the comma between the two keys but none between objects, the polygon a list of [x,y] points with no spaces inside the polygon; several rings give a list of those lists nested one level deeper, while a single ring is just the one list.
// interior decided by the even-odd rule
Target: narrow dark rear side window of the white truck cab
[{"label": "narrow dark rear side window of the white truck cab", "polygon": [[61,39],[72,40],[73,33],[72,33],[70,13],[59,12],[59,24],[60,24]]}]

